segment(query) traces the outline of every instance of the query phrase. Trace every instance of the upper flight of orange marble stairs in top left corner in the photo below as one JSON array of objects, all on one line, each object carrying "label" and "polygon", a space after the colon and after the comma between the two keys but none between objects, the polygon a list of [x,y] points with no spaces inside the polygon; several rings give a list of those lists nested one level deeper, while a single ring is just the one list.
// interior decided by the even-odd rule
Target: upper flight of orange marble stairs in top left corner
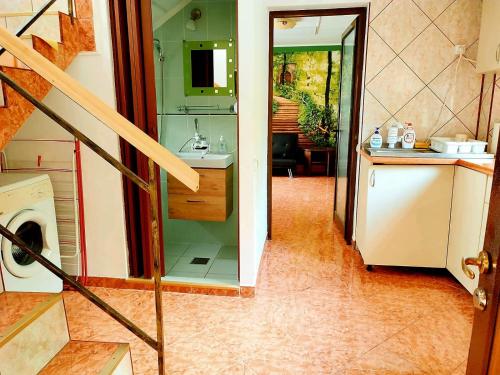
[{"label": "upper flight of orange marble stairs in top left corner", "polygon": [[[63,9],[59,3],[63,2],[56,2],[58,9]],[[22,40],[65,70],[81,51],[95,50],[91,4],[90,0],[75,0],[77,14],[73,19],[60,11],[48,12],[39,20],[42,23],[41,26],[33,25],[28,31],[32,34],[23,35]],[[30,14],[29,12],[2,13],[1,6],[0,20],[5,19],[8,26],[15,25],[16,22],[12,20],[24,19]],[[10,27],[9,31],[15,33],[14,27]],[[0,70],[23,87],[28,87],[38,100],[43,100],[52,88],[47,81],[8,52],[0,56]],[[0,83],[0,150],[14,137],[34,110],[35,107],[32,104],[5,83]]]}]

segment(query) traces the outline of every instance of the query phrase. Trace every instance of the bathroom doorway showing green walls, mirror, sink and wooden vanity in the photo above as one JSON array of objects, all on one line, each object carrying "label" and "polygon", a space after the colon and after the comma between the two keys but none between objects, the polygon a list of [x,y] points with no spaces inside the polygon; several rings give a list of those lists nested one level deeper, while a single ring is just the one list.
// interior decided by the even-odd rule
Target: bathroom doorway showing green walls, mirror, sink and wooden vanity
[{"label": "bathroom doorway showing green walls, mirror, sink and wooden vanity", "polygon": [[165,283],[239,287],[236,0],[151,0],[158,140],[200,175],[161,172]]}]

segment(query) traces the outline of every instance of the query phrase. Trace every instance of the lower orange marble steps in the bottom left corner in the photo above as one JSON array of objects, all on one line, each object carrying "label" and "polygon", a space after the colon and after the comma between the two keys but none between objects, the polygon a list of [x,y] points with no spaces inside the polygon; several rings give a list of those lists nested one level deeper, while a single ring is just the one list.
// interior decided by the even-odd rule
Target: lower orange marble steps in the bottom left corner
[{"label": "lower orange marble steps in the bottom left corner", "polygon": [[61,294],[0,294],[0,374],[133,374],[128,344],[70,339]]}]

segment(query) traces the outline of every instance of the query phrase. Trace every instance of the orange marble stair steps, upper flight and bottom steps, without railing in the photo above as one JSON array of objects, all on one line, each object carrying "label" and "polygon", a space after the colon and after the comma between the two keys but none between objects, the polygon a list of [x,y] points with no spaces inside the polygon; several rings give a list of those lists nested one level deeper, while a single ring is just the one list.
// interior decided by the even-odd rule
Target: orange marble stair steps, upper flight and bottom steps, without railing
[{"label": "orange marble stair steps, upper flight and bottom steps, without railing", "polygon": [[[67,4],[58,0],[54,5],[58,11],[46,12],[41,22],[21,37],[63,70],[81,51],[95,50],[92,1],[75,0],[77,14],[73,19],[61,12],[67,12]],[[0,25],[14,34],[19,21],[25,22],[32,12],[5,12],[5,6],[0,4]],[[40,101],[52,88],[8,52],[0,56],[0,70],[29,88]],[[34,110],[31,103],[0,82],[0,150]],[[62,294],[1,290],[0,282],[0,374],[133,374],[128,344],[71,340]]]}]

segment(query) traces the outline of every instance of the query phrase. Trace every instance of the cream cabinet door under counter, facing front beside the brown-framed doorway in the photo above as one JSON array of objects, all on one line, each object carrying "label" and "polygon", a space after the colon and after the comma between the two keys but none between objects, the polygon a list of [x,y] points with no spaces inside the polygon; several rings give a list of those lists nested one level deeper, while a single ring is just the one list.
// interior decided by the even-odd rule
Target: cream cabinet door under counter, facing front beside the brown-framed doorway
[{"label": "cream cabinet door under counter, facing front beside the brown-framed doorway", "polygon": [[365,264],[446,267],[453,168],[368,168]]}]

